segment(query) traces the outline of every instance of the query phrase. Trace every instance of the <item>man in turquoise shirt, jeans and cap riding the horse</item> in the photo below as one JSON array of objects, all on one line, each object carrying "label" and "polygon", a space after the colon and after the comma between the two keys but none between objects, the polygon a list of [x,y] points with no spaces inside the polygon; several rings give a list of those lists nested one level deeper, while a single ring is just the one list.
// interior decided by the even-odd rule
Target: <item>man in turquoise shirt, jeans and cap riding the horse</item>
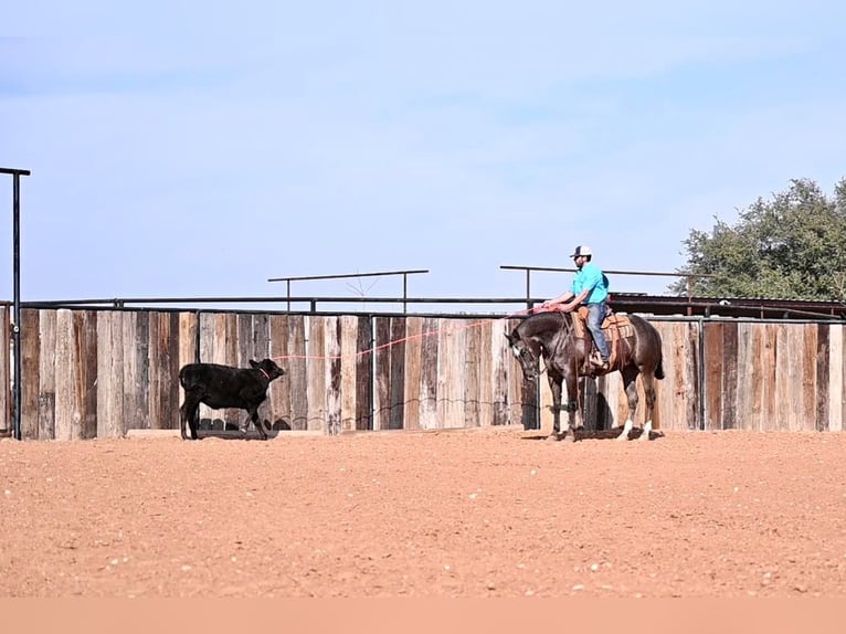
[{"label": "man in turquoise shirt, jeans and cap riding the horse", "polygon": [[549,299],[540,305],[541,309],[554,309],[570,313],[584,306],[588,308],[588,330],[596,344],[600,359],[591,367],[590,356],[585,356],[582,372],[603,373],[609,370],[609,347],[602,334],[602,321],[607,315],[609,278],[602,270],[593,264],[593,252],[590,246],[580,245],[570,255],[579,270],[570,285],[570,290]]}]

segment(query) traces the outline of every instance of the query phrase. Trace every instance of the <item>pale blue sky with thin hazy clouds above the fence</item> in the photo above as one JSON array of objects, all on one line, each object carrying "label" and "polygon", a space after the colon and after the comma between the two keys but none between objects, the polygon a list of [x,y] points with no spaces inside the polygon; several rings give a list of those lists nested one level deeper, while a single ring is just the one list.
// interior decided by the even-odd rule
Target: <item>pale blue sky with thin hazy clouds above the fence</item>
[{"label": "pale blue sky with thin hazy clouds above the fence", "polygon": [[[846,177],[840,0],[40,0],[0,22],[21,297],[277,297],[423,270],[411,297],[522,297],[501,266],[673,273],[691,230]],[[0,299],[12,299],[0,176]],[[531,295],[570,273],[536,273]],[[610,275],[663,294],[673,277]],[[402,277],[294,282],[396,297]]]}]

